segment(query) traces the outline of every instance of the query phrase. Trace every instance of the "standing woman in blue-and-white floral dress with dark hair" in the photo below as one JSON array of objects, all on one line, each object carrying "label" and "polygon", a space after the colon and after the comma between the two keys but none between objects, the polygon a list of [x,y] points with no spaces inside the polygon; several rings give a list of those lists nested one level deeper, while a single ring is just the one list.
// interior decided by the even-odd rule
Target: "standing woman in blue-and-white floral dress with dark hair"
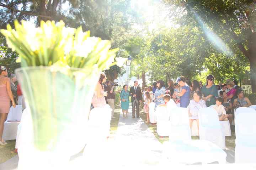
[{"label": "standing woman in blue-and-white floral dress with dark hair", "polygon": [[166,89],[165,89],[165,86],[164,86],[164,81],[159,80],[157,82],[156,86],[158,88],[156,89],[155,95],[154,95],[155,109],[156,109],[157,106],[159,106],[161,104],[165,104],[163,96],[166,93]]}]

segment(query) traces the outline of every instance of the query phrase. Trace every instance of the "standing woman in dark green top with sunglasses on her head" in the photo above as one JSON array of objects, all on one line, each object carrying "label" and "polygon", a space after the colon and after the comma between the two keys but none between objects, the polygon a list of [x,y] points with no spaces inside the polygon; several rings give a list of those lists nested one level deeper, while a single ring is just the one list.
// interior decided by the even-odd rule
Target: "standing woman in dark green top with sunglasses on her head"
[{"label": "standing woman in dark green top with sunglasses on her head", "polygon": [[206,77],[206,85],[202,87],[202,94],[204,97],[202,99],[206,101],[206,106],[209,107],[216,103],[216,97],[218,97],[217,87],[214,84],[213,75],[208,75]]}]

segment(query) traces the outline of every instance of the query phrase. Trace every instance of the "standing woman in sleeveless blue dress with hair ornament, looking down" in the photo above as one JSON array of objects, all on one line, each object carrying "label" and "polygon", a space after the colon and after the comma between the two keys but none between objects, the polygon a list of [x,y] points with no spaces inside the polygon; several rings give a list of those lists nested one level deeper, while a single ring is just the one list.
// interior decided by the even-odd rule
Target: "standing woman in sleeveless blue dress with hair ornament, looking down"
[{"label": "standing woman in sleeveless blue dress with hair ornament, looking down", "polygon": [[184,76],[178,77],[177,83],[181,86],[181,92],[177,94],[180,96],[180,107],[187,107],[190,103],[190,86],[187,85]]}]

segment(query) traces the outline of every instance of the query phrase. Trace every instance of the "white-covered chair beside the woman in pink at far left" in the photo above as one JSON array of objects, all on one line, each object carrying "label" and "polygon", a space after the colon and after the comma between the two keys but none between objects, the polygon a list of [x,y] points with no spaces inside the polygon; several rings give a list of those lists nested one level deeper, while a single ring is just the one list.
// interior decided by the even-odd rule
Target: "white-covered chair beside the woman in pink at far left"
[{"label": "white-covered chair beside the woman in pink at far left", "polygon": [[17,127],[20,124],[22,115],[22,105],[11,107],[7,119],[4,123],[4,132],[2,138],[4,140],[15,140],[17,136]]}]

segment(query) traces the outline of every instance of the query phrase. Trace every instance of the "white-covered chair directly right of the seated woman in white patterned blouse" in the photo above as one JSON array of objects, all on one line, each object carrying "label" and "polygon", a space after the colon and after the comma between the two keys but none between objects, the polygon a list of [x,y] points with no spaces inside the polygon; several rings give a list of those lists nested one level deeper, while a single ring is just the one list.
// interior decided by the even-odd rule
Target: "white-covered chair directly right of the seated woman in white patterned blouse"
[{"label": "white-covered chair directly right of the seated woman in white patterned blouse", "polygon": [[222,149],[226,149],[225,135],[220,126],[218,113],[213,108],[201,108],[199,117],[199,136],[200,140],[207,140]]}]

